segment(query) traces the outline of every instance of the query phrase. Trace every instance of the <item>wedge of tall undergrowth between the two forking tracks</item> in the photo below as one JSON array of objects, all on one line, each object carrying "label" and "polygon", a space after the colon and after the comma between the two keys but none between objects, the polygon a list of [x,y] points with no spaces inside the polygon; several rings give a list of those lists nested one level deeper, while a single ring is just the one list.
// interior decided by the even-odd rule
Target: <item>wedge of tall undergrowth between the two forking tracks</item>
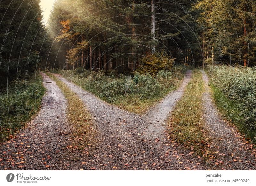
[{"label": "wedge of tall undergrowth between the two forking tracks", "polygon": [[143,112],[159,98],[179,85],[183,68],[177,67],[175,73],[160,71],[156,77],[136,73],[133,76],[120,74],[105,76],[100,72],[76,70],[57,70],[59,73],[92,92],[108,103],[121,106],[132,112]]}]

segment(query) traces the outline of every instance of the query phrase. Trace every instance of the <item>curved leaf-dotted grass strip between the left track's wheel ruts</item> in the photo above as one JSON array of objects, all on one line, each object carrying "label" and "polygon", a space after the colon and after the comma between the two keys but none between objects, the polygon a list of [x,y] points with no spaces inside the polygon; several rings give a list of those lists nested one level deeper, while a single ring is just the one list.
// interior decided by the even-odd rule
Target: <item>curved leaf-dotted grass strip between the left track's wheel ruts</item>
[{"label": "curved leaf-dotted grass strip between the left track's wheel ruts", "polygon": [[53,74],[48,72],[46,74],[56,82],[68,102],[67,119],[72,126],[73,135],[72,147],[70,148],[84,149],[85,146],[91,146],[94,143],[91,114],[77,94],[72,92],[64,82]]}]

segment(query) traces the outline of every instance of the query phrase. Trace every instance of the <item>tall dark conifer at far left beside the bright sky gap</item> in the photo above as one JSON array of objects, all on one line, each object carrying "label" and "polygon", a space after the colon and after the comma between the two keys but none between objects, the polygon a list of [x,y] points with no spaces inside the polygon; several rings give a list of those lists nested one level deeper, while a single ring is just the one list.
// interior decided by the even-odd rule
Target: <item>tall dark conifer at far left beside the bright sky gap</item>
[{"label": "tall dark conifer at far left beside the bright sky gap", "polygon": [[0,41],[4,44],[0,63],[2,86],[14,78],[27,79],[42,62],[40,50],[46,49],[47,33],[38,3],[31,4],[28,0],[1,2]]}]

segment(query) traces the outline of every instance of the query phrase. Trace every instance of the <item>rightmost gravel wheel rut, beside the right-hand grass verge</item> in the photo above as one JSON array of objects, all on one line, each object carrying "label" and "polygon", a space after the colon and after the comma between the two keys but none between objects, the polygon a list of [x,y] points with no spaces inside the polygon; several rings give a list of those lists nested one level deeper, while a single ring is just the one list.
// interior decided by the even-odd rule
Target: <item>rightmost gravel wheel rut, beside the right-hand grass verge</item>
[{"label": "rightmost gravel wheel rut, beside the right-hand grass verge", "polygon": [[[203,94],[204,121],[209,138],[210,150],[215,156],[213,169],[255,170],[256,152],[232,124],[221,118],[212,100],[208,76],[203,73],[205,92]],[[213,162],[214,163],[214,162]]]}]

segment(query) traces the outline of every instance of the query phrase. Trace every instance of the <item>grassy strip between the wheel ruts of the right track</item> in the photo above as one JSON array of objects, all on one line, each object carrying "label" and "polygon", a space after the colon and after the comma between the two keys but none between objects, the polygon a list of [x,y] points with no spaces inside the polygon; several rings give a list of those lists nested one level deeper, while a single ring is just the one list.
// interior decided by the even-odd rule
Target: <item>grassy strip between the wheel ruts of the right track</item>
[{"label": "grassy strip between the wheel ruts of the right track", "polygon": [[169,122],[169,135],[172,140],[188,145],[192,149],[201,146],[203,138],[202,94],[204,82],[202,73],[195,69],[194,76],[188,83],[184,95],[177,102]]}]

